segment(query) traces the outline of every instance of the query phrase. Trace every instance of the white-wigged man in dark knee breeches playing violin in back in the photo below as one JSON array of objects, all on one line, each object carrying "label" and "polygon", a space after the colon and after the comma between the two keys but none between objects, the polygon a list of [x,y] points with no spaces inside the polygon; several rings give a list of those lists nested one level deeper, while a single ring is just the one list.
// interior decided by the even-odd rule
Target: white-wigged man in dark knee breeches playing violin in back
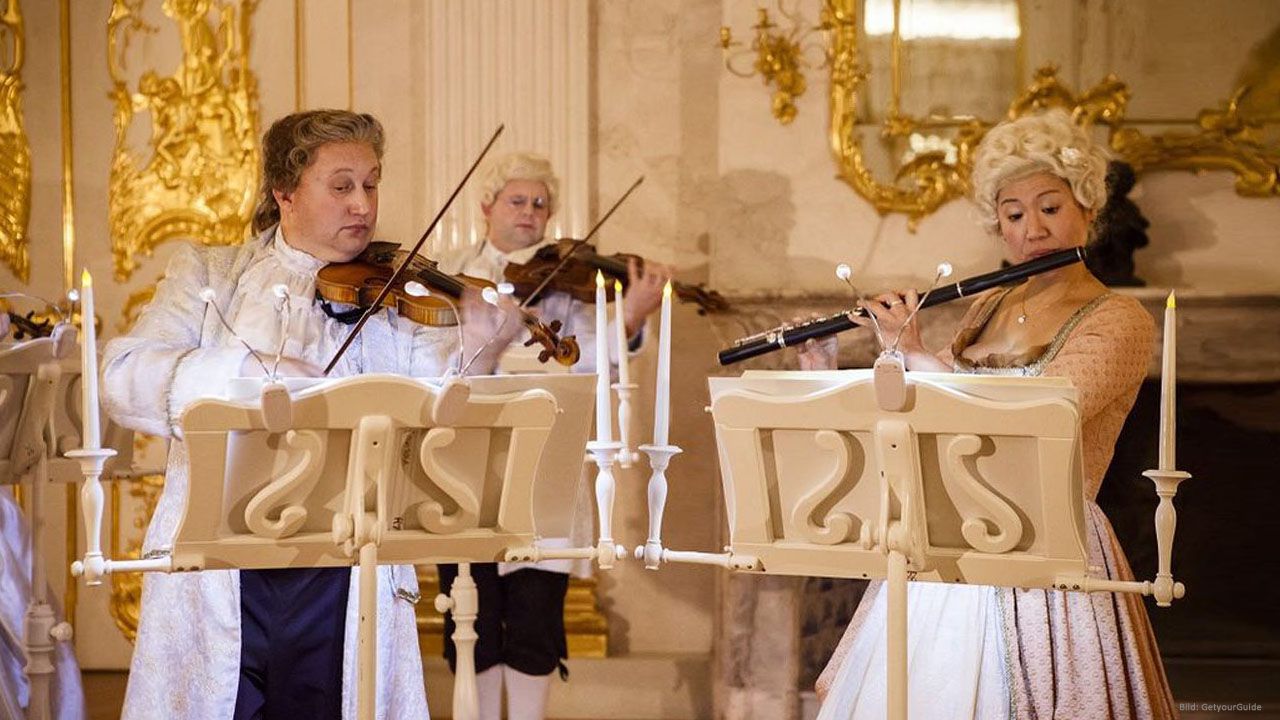
[{"label": "white-wigged man in dark knee breeches playing violin in back", "polygon": [[[544,233],[557,209],[559,181],[545,158],[527,152],[497,158],[481,173],[479,195],[485,218],[484,240],[438,258],[442,270],[499,282],[508,264],[525,264],[540,247],[556,242]],[[671,270],[657,263],[637,268],[632,261],[627,274],[623,322],[634,352],[640,347],[645,320],[662,304],[662,287],[671,278]],[[594,373],[594,307],[564,292],[550,291],[543,293],[538,309],[544,322],[563,324],[562,336],[577,336],[582,355],[572,372]],[[612,323],[614,315],[609,316]],[[609,332],[613,337],[614,331]],[[609,347],[614,345],[611,342]],[[513,347],[503,363],[517,356],[520,350]],[[607,361],[616,364],[617,357]],[[554,538],[547,541],[557,542]],[[567,673],[561,661],[568,656],[564,594],[571,565],[567,560],[536,565],[472,564],[471,575],[480,592],[476,684],[481,720],[499,717],[503,685],[507,687],[509,717],[539,720],[545,715],[552,673],[557,669],[562,676]],[[442,592],[449,592],[456,577],[456,566],[440,566]],[[451,667],[454,664],[452,634],[452,618],[445,618],[444,653]]]}]

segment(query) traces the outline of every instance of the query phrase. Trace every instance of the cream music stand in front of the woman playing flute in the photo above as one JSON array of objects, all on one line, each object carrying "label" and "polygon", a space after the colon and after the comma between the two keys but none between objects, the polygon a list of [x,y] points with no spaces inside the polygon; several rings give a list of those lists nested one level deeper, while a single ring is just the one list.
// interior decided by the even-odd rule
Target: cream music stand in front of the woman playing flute
[{"label": "cream music stand in front of the woman playing flute", "polygon": [[[904,720],[909,575],[1181,597],[1171,575],[1165,589],[1089,577],[1068,380],[896,370],[712,378],[730,546],[662,560],[886,578],[888,716]],[[1157,518],[1171,520],[1171,500]],[[1172,523],[1157,528],[1167,571]]]}]

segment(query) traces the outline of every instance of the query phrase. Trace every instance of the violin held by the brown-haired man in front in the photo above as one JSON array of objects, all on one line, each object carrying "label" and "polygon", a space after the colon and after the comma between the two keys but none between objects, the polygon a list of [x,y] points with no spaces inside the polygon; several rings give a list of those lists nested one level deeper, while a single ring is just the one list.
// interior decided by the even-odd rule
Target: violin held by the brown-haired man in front
[{"label": "violin held by the brown-haired man in front", "polygon": [[[404,264],[397,274],[397,269]],[[388,281],[394,282],[388,292],[383,292]],[[411,293],[406,286],[419,282],[431,291],[421,296]],[[316,293],[329,302],[344,302],[357,307],[369,307],[381,296],[383,307],[394,307],[396,313],[415,323],[430,327],[457,325],[457,304],[467,288],[484,291],[494,283],[470,275],[451,275],[442,272],[434,260],[412,255],[401,250],[394,242],[370,242],[356,259],[348,263],[330,263],[316,274]],[[540,363],[554,359],[561,365],[572,365],[581,356],[581,350],[573,336],[559,337],[561,322],[543,323],[529,310],[521,309],[521,322],[529,331],[525,346],[538,343],[543,350],[538,354]]]}]

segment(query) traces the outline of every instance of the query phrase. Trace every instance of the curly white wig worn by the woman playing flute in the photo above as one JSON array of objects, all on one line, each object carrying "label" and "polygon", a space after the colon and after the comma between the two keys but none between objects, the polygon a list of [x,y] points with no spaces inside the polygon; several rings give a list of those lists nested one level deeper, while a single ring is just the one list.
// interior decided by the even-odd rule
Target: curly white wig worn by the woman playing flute
[{"label": "curly white wig worn by the woman playing flute", "polygon": [[1066,181],[1085,210],[1101,210],[1107,200],[1107,152],[1066,111],[1006,120],[987,132],[973,161],[973,200],[988,232],[1000,234],[1000,191],[1036,173]]}]

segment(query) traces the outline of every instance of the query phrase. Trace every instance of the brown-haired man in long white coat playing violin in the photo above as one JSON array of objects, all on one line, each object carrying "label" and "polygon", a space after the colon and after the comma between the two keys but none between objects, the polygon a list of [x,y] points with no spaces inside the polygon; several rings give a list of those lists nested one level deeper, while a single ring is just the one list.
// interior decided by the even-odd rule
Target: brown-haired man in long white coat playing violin
[{"label": "brown-haired man in long white coat playing violin", "polygon": [[[351,325],[315,302],[316,273],[351,260],[372,238],[383,145],[381,126],[366,114],[312,110],[276,120],[262,138],[256,237],[238,247],[178,247],[151,305],[127,336],[108,345],[108,413],[122,425],[170,438],[146,555],[172,547],[184,511],[187,451],[170,430],[183,409],[221,395],[229,378],[261,373],[246,345],[271,356],[283,348],[282,374],[319,375],[349,333]],[[503,313],[463,301],[463,346],[467,357],[476,355],[475,373],[492,372],[521,327]],[[330,375],[439,377],[460,352],[457,337],[453,328],[378,311]],[[146,575],[123,716],[353,716],[356,647],[344,637],[355,638],[358,618],[356,571]],[[378,716],[426,717],[413,569],[378,571]]]}]

